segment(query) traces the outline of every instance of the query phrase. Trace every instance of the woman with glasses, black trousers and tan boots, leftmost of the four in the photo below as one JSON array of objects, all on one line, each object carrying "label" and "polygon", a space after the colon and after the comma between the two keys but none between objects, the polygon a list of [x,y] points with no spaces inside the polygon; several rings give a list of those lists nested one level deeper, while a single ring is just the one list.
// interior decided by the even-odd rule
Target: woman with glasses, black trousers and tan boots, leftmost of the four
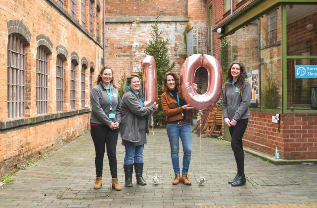
[{"label": "woman with glasses, black trousers and tan boots, leftmost of the four", "polygon": [[103,157],[105,146],[112,177],[112,187],[121,191],[117,176],[116,147],[121,122],[120,96],[113,83],[113,71],[103,67],[97,78],[97,85],[92,89],[90,102],[90,134],[95,146],[96,179],[94,189],[102,186]]}]

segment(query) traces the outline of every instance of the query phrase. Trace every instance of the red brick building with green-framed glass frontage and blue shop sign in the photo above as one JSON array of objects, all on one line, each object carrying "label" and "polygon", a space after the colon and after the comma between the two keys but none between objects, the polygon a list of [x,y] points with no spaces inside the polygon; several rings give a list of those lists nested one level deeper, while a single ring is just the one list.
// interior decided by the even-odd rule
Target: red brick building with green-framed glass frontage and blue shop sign
[{"label": "red brick building with green-framed glass frontage and blue shop sign", "polygon": [[[249,72],[253,93],[245,146],[269,155],[277,147],[286,160],[317,159],[316,11],[314,0],[206,1],[213,54],[224,74],[234,60]],[[302,65],[313,73],[303,78]],[[230,140],[227,128],[224,134]]]}]

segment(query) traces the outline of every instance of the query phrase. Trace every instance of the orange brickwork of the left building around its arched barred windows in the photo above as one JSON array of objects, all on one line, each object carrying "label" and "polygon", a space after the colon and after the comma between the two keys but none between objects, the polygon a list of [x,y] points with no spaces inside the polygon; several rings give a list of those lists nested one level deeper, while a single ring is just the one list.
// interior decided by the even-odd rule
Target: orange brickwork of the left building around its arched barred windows
[{"label": "orange brickwork of the left building around its arched barred windows", "polygon": [[[0,176],[10,172],[12,168],[19,168],[31,158],[38,157],[38,154],[43,155],[56,150],[89,130],[89,66],[93,63],[95,67],[93,73],[95,82],[101,68],[102,47],[96,40],[95,32],[91,35],[81,27],[81,7],[78,5],[80,1],[76,1],[76,8],[79,9],[76,14],[77,21],[69,14],[70,0],[65,2],[64,8],[53,0],[37,1],[36,4],[22,0],[6,1],[1,4],[0,65],[3,67],[0,69]],[[96,3],[93,4],[93,7],[95,6]],[[89,10],[89,7],[86,6],[86,9]],[[87,20],[89,23],[89,16],[86,15],[86,23]],[[8,22],[12,25],[8,26]],[[28,33],[30,35],[29,42],[25,46],[25,117],[8,119],[8,37],[12,31],[19,33],[22,27],[26,30],[18,35],[21,37],[29,37]],[[48,113],[44,115],[38,115],[36,108],[36,53],[38,44],[42,41],[37,39],[46,41],[48,45],[51,44],[51,53],[48,55]],[[63,113],[56,112],[56,56],[60,53],[67,56],[63,62]],[[88,66],[85,76],[84,109],[81,107],[80,87],[83,57],[86,58]],[[70,110],[70,66],[73,58],[78,62],[76,111]],[[41,122],[43,118],[45,119]],[[8,128],[8,125],[13,126]]]}]

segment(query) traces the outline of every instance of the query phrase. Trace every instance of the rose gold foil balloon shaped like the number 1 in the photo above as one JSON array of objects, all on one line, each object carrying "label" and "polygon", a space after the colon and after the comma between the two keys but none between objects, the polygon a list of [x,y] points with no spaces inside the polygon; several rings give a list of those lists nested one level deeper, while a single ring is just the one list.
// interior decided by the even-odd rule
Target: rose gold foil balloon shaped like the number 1
[{"label": "rose gold foil balloon shaped like the number 1", "polygon": [[156,74],[155,59],[146,55],[142,61],[143,88],[144,88],[144,106],[150,106],[158,101],[158,81]]}]

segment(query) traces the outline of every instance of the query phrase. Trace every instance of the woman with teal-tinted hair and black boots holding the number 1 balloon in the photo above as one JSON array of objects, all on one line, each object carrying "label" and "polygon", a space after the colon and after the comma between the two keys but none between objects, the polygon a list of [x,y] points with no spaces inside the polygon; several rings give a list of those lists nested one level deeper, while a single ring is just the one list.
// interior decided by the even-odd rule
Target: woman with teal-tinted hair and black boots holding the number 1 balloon
[{"label": "woman with teal-tinted hair and black boots holding the number 1 balloon", "polygon": [[125,146],[124,158],[125,186],[132,187],[133,164],[137,183],[146,185],[143,179],[143,148],[146,141],[146,133],[149,133],[148,115],[153,113],[158,105],[144,106],[144,98],[141,94],[142,87],[138,75],[132,74],[126,78],[124,84],[125,94],[121,100],[121,129],[122,145]]}]

